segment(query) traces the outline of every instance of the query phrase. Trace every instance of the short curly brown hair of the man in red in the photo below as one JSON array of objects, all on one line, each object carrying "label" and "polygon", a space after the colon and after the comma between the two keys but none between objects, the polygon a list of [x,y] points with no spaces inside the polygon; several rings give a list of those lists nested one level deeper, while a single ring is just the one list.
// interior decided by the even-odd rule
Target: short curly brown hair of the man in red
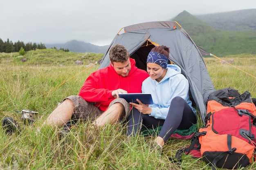
[{"label": "short curly brown hair of the man in red", "polygon": [[127,49],[119,44],[115,44],[109,52],[110,62],[126,62],[129,59]]}]

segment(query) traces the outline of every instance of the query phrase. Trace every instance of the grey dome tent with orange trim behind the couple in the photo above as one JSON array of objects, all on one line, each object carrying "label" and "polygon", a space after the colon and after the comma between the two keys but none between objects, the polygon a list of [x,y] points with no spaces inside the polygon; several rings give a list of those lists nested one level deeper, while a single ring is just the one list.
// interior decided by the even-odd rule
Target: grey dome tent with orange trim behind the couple
[{"label": "grey dome tent with orange trim behind the couple", "polygon": [[144,70],[150,50],[156,45],[168,46],[169,60],[180,66],[182,74],[189,80],[191,99],[204,120],[208,96],[215,91],[203,60],[203,56],[210,53],[198,47],[175,21],[145,22],[126,26],[124,33],[119,32],[103,56],[99,68],[110,64],[109,51],[115,44],[123,45],[130,57],[135,59],[136,66]]}]

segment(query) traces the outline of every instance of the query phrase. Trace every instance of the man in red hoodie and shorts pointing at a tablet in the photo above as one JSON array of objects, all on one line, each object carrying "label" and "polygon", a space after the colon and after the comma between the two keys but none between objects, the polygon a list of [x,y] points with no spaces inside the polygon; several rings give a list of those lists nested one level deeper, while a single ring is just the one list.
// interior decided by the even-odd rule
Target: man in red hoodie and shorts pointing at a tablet
[{"label": "man in red hoodie and shorts pointing at a tablet", "polygon": [[148,73],[135,66],[124,46],[110,49],[110,65],[93,72],[85,80],[78,95],[72,95],[49,115],[44,124],[63,126],[74,119],[91,119],[103,127],[130,114],[130,105],[119,93],[141,93]]}]

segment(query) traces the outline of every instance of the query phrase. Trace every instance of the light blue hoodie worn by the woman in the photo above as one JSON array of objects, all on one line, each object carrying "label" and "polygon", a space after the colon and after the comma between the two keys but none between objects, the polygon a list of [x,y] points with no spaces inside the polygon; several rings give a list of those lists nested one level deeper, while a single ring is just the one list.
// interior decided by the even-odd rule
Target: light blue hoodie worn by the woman
[{"label": "light blue hoodie worn by the woman", "polygon": [[156,119],[166,119],[171,100],[176,97],[182,97],[195,113],[192,102],[189,99],[189,82],[181,74],[181,69],[175,64],[167,65],[167,72],[164,78],[157,82],[150,77],[146,78],[142,83],[142,93],[150,93],[153,103],[150,104],[151,114]]}]

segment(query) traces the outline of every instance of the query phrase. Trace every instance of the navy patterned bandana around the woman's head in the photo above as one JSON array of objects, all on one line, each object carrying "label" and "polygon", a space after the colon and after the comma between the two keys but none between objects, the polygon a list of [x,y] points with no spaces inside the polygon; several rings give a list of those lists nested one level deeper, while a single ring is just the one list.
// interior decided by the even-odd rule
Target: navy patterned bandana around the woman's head
[{"label": "navy patterned bandana around the woman's head", "polygon": [[158,64],[162,68],[167,68],[168,58],[163,54],[160,54],[160,53],[157,53],[154,51],[150,51],[150,53],[148,54],[148,58],[147,58],[147,63],[148,62],[153,62],[155,64]]}]

